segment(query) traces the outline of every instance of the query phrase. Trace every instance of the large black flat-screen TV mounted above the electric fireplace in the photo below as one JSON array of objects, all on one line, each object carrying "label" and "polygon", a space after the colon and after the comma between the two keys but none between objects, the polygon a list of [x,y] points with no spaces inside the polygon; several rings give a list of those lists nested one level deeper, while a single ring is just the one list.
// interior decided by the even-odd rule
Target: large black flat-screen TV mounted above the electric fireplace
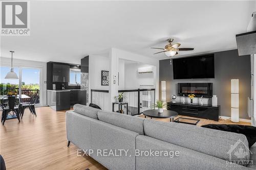
[{"label": "large black flat-screen TV mounted above the electric fireplace", "polygon": [[173,59],[174,79],[214,78],[214,54]]}]

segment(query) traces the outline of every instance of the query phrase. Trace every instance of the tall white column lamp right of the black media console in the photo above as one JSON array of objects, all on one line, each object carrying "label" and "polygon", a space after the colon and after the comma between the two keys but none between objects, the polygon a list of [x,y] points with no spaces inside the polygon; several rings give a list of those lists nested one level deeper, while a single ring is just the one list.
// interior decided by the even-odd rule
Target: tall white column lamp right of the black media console
[{"label": "tall white column lamp right of the black media console", "polygon": [[239,122],[239,80],[231,79],[231,121]]}]

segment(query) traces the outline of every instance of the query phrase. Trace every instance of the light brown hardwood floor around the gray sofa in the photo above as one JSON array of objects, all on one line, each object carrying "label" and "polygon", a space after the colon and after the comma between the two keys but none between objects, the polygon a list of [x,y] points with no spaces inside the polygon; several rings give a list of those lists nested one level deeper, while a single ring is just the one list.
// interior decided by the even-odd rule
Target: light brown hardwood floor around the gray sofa
[{"label": "light brown hardwood floor around the gray sofa", "polygon": [[[0,154],[7,169],[106,169],[89,156],[77,156],[77,147],[67,147],[65,111],[36,108],[37,117],[26,109],[23,119],[6,120],[0,125]],[[143,115],[141,115],[144,117]],[[160,119],[169,122],[169,119]],[[231,124],[230,120],[201,119],[204,124]],[[250,123],[239,123],[250,125]]]}]

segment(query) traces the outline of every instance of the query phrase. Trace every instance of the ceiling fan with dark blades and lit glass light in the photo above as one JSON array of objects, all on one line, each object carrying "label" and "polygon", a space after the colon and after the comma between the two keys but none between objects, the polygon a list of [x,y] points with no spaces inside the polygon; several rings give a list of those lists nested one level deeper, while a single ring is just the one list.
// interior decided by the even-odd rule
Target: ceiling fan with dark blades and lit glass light
[{"label": "ceiling fan with dark blades and lit glass light", "polygon": [[[177,55],[178,51],[194,50],[194,48],[178,48],[181,44],[180,43],[172,44],[172,42],[174,41],[174,38],[169,38],[169,39],[167,39],[167,41],[169,42],[169,44],[165,45],[164,48],[156,48],[156,47],[151,47],[151,48],[163,50],[163,51],[158,52],[158,53],[163,53],[164,52],[164,54],[168,57],[173,57],[173,56]],[[158,54],[158,53],[154,53],[154,54]]]}]

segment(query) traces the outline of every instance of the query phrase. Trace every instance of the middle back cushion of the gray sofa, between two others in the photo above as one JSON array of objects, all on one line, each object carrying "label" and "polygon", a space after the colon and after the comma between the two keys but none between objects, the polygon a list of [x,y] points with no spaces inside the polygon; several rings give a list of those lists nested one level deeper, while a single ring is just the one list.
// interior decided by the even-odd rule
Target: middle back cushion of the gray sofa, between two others
[{"label": "middle back cushion of the gray sofa, between two others", "polygon": [[98,111],[98,119],[102,122],[115,125],[120,128],[128,129],[139,134],[144,134],[144,119],[140,117],[100,110]]}]

